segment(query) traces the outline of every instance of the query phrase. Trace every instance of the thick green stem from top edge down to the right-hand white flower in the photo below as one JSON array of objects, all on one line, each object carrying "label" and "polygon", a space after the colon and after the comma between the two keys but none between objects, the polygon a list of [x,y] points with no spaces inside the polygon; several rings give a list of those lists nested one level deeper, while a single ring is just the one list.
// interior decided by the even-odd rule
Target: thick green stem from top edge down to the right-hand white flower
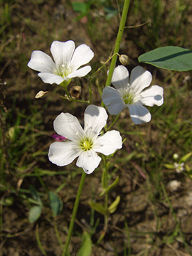
[{"label": "thick green stem from top edge down to the right-hand white flower", "polygon": [[117,54],[115,54],[115,53],[119,53],[119,47],[120,47],[120,44],[122,42],[124,26],[125,26],[125,23],[127,21],[127,13],[128,13],[128,10],[129,10],[129,4],[130,4],[130,0],[124,0],[122,18],[121,18],[121,22],[120,22],[120,25],[119,25],[119,31],[117,33],[116,43],[115,43],[115,46],[114,46],[114,52],[113,52],[114,56],[112,58],[112,62],[111,62],[111,65],[110,65],[110,71],[109,71],[109,74],[107,76],[107,81],[106,81],[105,86],[110,86],[111,81],[112,81],[112,74],[113,74],[114,67],[115,67],[115,64],[116,64],[116,61],[117,61]]}]

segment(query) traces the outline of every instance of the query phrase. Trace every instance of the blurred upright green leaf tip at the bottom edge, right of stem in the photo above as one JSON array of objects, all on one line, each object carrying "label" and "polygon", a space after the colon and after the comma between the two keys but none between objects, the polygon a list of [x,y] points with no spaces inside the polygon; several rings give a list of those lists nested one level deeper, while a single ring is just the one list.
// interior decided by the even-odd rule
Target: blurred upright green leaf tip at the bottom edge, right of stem
[{"label": "blurred upright green leaf tip at the bottom edge, right of stem", "polygon": [[92,240],[90,234],[85,231],[82,235],[82,245],[77,256],[90,256],[92,252]]}]

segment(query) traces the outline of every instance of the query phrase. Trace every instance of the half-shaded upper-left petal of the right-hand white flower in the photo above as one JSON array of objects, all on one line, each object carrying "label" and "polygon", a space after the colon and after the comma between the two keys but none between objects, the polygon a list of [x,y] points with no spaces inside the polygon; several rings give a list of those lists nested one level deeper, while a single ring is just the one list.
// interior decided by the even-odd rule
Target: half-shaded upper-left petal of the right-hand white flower
[{"label": "half-shaded upper-left petal of the right-hand white flower", "polygon": [[112,75],[112,85],[116,89],[126,89],[129,82],[129,71],[123,65],[114,68],[114,73]]}]

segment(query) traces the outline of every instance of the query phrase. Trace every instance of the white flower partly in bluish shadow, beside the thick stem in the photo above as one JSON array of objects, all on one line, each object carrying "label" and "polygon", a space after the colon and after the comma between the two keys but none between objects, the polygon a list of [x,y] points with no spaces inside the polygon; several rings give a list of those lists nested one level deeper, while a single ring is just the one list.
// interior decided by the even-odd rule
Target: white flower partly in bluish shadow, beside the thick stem
[{"label": "white flower partly in bluish shadow, beside the thick stem", "polygon": [[129,72],[123,65],[114,69],[112,85],[103,90],[102,100],[108,107],[110,114],[119,114],[129,108],[129,114],[135,124],[142,124],[151,120],[151,114],[146,106],[161,106],[164,103],[164,89],[153,85],[144,90],[151,83],[152,75],[144,68],[137,66]]}]

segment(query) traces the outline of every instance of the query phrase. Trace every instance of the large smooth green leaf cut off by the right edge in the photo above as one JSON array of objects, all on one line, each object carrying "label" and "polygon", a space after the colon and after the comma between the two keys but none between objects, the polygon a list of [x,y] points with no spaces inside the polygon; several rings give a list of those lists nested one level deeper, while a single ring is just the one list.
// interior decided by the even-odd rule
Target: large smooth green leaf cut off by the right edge
[{"label": "large smooth green leaf cut off by the right edge", "polygon": [[156,48],[140,55],[138,60],[166,70],[192,70],[192,50],[177,46]]}]

